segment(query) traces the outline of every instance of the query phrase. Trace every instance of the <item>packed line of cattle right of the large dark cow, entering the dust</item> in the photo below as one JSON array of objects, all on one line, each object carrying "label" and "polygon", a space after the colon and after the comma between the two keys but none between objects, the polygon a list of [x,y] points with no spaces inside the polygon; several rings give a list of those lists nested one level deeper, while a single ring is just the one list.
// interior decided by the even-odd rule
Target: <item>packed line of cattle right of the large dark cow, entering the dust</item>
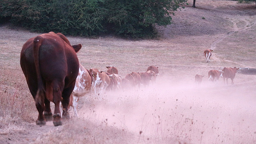
[{"label": "packed line of cattle right of the large dark cow, entering the dust", "polygon": [[78,99],[86,94],[98,94],[106,91],[127,90],[135,86],[140,88],[140,84],[148,86],[156,82],[158,67],[149,66],[146,72],[131,72],[124,78],[118,75],[118,69],[113,66],[107,66],[107,71],[100,71],[97,68],[84,68],[79,66],[79,73],[76,77],[75,88],[70,96],[69,106],[74,108],[77,116]]}]

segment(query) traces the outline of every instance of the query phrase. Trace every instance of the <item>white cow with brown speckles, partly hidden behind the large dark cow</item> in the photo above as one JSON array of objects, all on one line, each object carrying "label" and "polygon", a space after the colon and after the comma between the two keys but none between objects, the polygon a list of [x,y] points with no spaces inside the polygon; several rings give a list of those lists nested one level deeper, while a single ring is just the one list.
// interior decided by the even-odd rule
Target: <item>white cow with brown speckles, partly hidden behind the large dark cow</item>
[{"label": "white cow with brown speckles, partly hidden behind the large dark cow", "polygon": [[77,116],[77,103],[80,97],[91,93],[92,74],[85,69],[81,64],[79,65],[79,73],[76,77],[76,85],[70,96],[68,107],[74,108],[75,116]]}]

